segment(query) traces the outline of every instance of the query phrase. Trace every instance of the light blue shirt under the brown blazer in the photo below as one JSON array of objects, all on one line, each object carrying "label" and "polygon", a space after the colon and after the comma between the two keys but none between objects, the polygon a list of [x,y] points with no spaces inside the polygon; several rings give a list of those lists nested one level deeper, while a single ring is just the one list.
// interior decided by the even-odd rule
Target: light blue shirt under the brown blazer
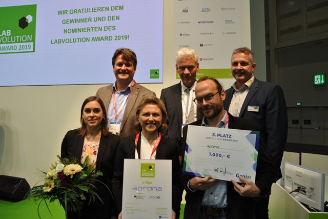
[{"label": "light blue shirt under the brown blazer", "polygon": [[[113,85],[113,91],[114,91],[114,94],[115,94],[116,111],[118,111],[118,109],[120,108],[121,104],[124,102],[124,99],[129,96],[132,82],[128,85],[128,87],[124,91],[121,91],[121,92],[119,92],[119,91],[116,90],[116,86],[115,86],[116,82],[114,83],[114,85]],[[119,122],[119,123],[122,122],[124,111],[125,111],[125,108],[126,108],[127,103],[128,103],[128,101],[125,102],[125,105],[123,106],[123,108],[120,111],[120,113],[117,115],[117,120],[115,121],[115,110],[114,110],[113,98],[112,98],[112,95],[113,94],[110,93],[109,95],[111,96],[111,100],[109,102],[109,106],[108,106],[108,109],[107,109],[108,127],[109,127],[109,123],[110,122]]]}]

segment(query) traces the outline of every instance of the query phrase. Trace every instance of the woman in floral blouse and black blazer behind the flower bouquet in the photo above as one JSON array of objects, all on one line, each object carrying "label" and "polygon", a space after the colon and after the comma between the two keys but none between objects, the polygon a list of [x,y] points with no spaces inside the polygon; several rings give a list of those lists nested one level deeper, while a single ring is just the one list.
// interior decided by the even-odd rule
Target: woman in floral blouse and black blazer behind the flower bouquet
[{"label": "woman in floral blouse and black blazer behind the flower bouquet", "polygon": [[[81,127],[70,130],[61,143],[61,157],[77,158],[84,163],[89,155],[88,166],[95,165],[104,175],[97,180],[111,188],[113,166],[119,137],[107,130],[107,116],[104,103],[96,96],[88,97],[81,107]],[[113,195],[104,185],[97,183],[97,194],[104,204],[99,201],[84,204],[80,217],[76,212],[68,212],[70,219],[75,218],[106,218],[110,219],[114,212]]]}]

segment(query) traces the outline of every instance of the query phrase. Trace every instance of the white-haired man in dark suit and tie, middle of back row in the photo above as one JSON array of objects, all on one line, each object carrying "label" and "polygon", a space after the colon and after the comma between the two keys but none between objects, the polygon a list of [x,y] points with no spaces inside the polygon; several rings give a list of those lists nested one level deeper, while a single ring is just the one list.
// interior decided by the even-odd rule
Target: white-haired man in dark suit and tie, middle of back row
[{"label": "white-haired man in dark suit and tie, middle of back row", "polygon": [[193,103],[197,84],[196,73],[199,70],[198,55],[193,49],[182,48],[176,52],[175,62],[181,82],[162,89],[160,99],[164,102],[169,115],[167,134],[180,147],[182,127],[202,118]]}]

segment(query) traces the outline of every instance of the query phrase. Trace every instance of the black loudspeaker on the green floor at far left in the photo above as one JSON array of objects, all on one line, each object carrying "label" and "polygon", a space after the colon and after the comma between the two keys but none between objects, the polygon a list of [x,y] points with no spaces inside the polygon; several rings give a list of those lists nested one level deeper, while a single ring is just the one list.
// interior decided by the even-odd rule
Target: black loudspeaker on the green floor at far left
[{"label": "black loudspeaker on the green floor at far left", "polygon": [[10,201],[24,200],[31,190],[25,178],[0,175],[0,198]]}]

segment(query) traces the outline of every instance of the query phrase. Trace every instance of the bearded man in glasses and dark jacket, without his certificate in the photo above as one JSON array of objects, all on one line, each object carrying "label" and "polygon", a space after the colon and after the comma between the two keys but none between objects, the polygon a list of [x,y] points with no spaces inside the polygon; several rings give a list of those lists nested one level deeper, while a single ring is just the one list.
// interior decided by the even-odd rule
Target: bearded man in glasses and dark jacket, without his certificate
[{"label": "bearded man in glasses and dark jacket, without his certificate", "polygon": [[[226,92],[211,77],[199,79],[195,102],[204,118],[190,125],[258,130],[255,122],[234,117],[223,109]],[[186,144],[188,126],[183,128],[183,145]],[[210,176],[198,177],[182,174],[185,188],[186,207],[184,218],[254,218],[255,204],[267,194],[274,180],[273,166],[270,163],[265,145],[261,141],[255,183],[239,177],[242,184],[215,180]]]}]

